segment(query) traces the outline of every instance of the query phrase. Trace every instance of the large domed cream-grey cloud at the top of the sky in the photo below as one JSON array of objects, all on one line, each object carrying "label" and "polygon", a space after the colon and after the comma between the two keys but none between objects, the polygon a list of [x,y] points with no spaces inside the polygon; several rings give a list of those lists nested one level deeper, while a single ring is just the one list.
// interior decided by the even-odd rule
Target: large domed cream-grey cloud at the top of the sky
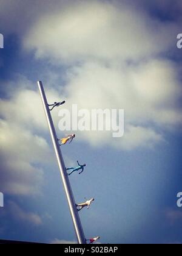
[{"label": "large domed cream-grey cloud at the top of the sky", "polygon": [[169,30],[175,38],[175,24],[152,20],[126,4],[75,1],[42,15],[24,46],[53,63],[95,58],[136,62],[167,51],[173,45]]}]

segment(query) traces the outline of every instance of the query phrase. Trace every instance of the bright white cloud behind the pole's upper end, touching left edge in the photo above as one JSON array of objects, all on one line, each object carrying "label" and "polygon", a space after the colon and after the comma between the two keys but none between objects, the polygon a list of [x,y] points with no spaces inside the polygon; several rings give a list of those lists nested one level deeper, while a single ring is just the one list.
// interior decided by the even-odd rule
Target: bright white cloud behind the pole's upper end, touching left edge
[{"label": "bright white cloud behind the pole's upper end, touching left edge", "polygon": [[[0,99],[2,118],[11,124],[21,124],[26,129],[47,130],[44,109],[36,82],[33,84],[25,77],[18,77],[16,82],[7,84],[13,89],[8,95],[8,99]],[[51,103],[59,99],[58,93],[52,89],[46,93]]]}]

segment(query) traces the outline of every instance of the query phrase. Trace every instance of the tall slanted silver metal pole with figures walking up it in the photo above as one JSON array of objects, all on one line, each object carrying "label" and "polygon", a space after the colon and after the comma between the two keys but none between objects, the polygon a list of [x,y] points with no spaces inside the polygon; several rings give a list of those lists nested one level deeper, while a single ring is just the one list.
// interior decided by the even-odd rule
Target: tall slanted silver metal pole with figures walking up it
[{"label": "tall slanted silver metal pole with figures walking up it", "polygon": [[42,82],[38,82],[39,91],[41,94],[42,103],[44,106],[45,116],[47,118],[47,123],[50,130],[50,135],[52,138],[53,146],[56,153],[56,158],[58,160],[59,169],[61,172],[62,182],[64,185],[64,190],[66,192],[67,201],[69,204],[70,214],[72,216],[73,226],[75,228],[76,238],[79,244],[86,244],[86,238],[84,236],[83,227],[81,225],[81,221],[78,215],[78,211],[76,209],[75,199],[73,196],[72,188],[69,182],[69,178],[67,176],[64,160],[62,158],[61,149],[58,143],[58,137],[56,135],[55,126],[52,121],[52,116],[50,115],[49,105],[47,103],[47,98],[45,96],[44,87]]}]

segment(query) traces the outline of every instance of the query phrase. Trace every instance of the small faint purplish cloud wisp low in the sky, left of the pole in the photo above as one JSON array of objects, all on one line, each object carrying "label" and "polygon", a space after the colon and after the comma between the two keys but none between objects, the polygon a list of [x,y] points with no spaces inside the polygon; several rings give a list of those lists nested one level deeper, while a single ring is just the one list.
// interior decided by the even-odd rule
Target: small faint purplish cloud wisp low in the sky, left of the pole
[{"label": "small faint purplish cloud wisp low in the sky, left of the pole", "polygon": [[18,222],[33,224],[33,226],[42,225],[42,219],[39,215],[32,212],[24,212],[15,202],[8,202],[8,213]]}]

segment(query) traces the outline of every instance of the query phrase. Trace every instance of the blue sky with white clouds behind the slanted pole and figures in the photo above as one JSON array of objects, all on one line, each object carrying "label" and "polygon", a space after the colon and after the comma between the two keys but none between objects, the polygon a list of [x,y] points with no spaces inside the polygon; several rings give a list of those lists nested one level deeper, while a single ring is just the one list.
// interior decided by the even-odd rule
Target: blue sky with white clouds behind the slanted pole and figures
[{"label": "blue sky with white clouds behind the slanted pole and figures", "polygon": [[[75,243],[36,82],[50,103],[124,109],[124,136],[62,147],[87,238],[182,243],[180,0],[0,0],[0,239]],[[52,112],[59,137],[58,109]]]}]

